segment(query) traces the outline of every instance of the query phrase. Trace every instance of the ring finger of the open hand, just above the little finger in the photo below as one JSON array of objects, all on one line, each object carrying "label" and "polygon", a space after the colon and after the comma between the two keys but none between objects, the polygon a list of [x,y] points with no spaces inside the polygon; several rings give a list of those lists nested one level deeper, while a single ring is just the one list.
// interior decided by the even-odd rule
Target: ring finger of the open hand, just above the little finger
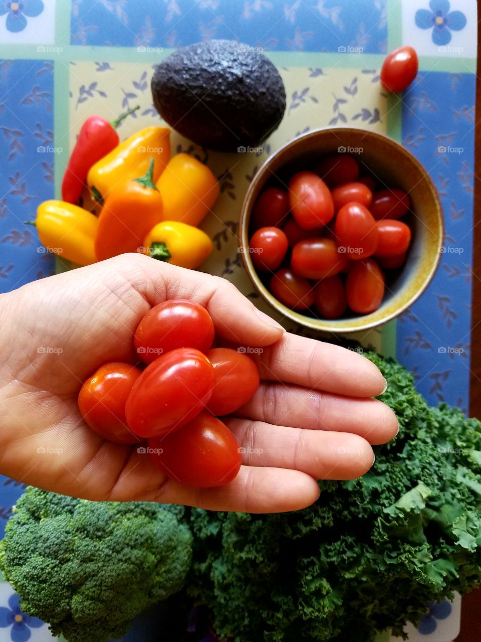
[{"label": "ring finger of the open hand, just above the little finger", "polygon": [[367,473],[374,453],[365,439],[350,433],[300,430],[262,421],[226,419],[239,440],[242,464],[288,468],[323,480],[352,480]]}]

